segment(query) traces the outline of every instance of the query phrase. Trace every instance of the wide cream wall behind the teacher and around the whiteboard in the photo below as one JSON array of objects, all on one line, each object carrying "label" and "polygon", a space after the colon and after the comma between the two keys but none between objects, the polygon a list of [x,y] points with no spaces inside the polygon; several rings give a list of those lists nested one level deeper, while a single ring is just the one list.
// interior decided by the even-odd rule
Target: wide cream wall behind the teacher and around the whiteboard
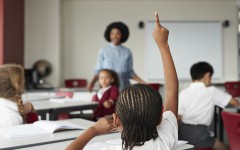
[{"label": "wide cream wall behind the teacher and around the whiteboard", "polygon": [[63,78],[92,78],[98,50],[107,44],[103,32],[112,21],[123,21],[129,26],[130,38],[124,45],[133,52],[136,73],[145,78],[144,29],[138,28],[138,22],[153,20],[154,11],[158,11],[160,19],[167,21],[229,20],[230,26],[223,30],[223,80],[238,79],[238,18],[234,0],[62,0],[61,7]]}]

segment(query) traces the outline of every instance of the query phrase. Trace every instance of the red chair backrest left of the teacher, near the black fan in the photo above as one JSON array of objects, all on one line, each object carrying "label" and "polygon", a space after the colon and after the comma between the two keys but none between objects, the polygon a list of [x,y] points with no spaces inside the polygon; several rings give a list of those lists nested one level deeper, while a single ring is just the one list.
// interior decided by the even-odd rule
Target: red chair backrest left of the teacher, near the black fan
[{"label": "red chair backrest left of the teacher, near the black fan", "polygon": [[67,88],[85,88],[87,87],[86,79],[67,79],[65,80],[65,87]]}]

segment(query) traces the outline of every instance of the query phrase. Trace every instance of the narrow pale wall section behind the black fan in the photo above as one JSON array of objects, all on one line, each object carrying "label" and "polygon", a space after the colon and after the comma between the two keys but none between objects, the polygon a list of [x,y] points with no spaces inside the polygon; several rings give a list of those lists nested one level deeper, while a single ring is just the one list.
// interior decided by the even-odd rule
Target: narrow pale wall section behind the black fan
[{"label": "narrow pale wall section behind the black fan", "polygon": [[25,67],[39,59],[52,64],[46,79],[59,86],[60,68],[60,0],[25,0]]}]

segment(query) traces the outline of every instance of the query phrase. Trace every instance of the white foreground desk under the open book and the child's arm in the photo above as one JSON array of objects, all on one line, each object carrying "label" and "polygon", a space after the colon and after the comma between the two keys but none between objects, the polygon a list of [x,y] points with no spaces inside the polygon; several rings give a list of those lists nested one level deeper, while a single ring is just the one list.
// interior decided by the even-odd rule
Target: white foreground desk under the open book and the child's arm
[{"label": "white foreground desk under the open book and the child's arm", "polygon": [[[69,119],[67,121],[79,124],[84,127],[89,127],[94,124],[92,121],[84,119]],[[76,137],[78,137],[84,130],[66,130],[56,132],[48,135],[7,139],[0,134],[0,149],[22,149],[22,150],[43,150],[43,149],[64,149],[70,144]],[[112,139],[119,139],[120,133],[111,133],[107,135],[101,135],[93,138],[89,143],[104,142]],[[177,150],[193,149],[190,144],[184,144],[177,147]]]}]

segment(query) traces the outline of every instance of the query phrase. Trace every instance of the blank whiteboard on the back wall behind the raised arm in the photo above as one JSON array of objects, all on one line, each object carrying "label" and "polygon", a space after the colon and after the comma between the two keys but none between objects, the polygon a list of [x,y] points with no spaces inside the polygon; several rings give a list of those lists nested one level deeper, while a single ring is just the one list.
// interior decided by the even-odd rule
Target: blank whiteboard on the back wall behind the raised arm
[{"label": "blank whiteboard on the back wall behind the raised arm", "polygon": [[[213,79],[223,77],[221,22],[161,22],[169,29],[169,46],[180,80],[191,79],[190,67],[207,61],[214,68]],[[146,23],[145,70],[148,81],[164,79],[162,60],[152,37],[155,22]]]}]

